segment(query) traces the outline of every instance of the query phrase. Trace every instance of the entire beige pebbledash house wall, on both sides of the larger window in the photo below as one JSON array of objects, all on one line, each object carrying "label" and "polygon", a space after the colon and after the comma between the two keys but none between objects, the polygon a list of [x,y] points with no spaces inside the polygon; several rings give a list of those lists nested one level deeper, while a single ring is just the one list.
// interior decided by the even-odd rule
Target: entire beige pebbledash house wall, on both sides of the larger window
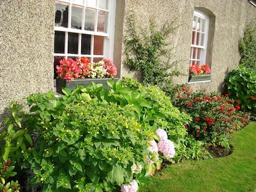
[{"label": "entire beige pebbledash house wall, on both sides of the larger window", "polygon": [[[92,0],[90,0],[92,1]],[[31,93],[52,90],[54,76],[54,0],[0,1],[0,122],[11,100]],[[256,17],[256,8],[247,0],[116,0],[115,50],[113,60],[118,77],[135,77],[124,64],[124,36],[131,10],[142,28],[154,17],[161,28],[166,21],[177,19],[180,27],[170,36],[173,61],[187,76],[175,78],[176,83],[188,83],[189,54],[193,10],[204,8],[214,17],[211,42],[210,83],[194,83],[196,89],[221,91],[225,75],[239,63],[238,40],[246,24]]]}]

